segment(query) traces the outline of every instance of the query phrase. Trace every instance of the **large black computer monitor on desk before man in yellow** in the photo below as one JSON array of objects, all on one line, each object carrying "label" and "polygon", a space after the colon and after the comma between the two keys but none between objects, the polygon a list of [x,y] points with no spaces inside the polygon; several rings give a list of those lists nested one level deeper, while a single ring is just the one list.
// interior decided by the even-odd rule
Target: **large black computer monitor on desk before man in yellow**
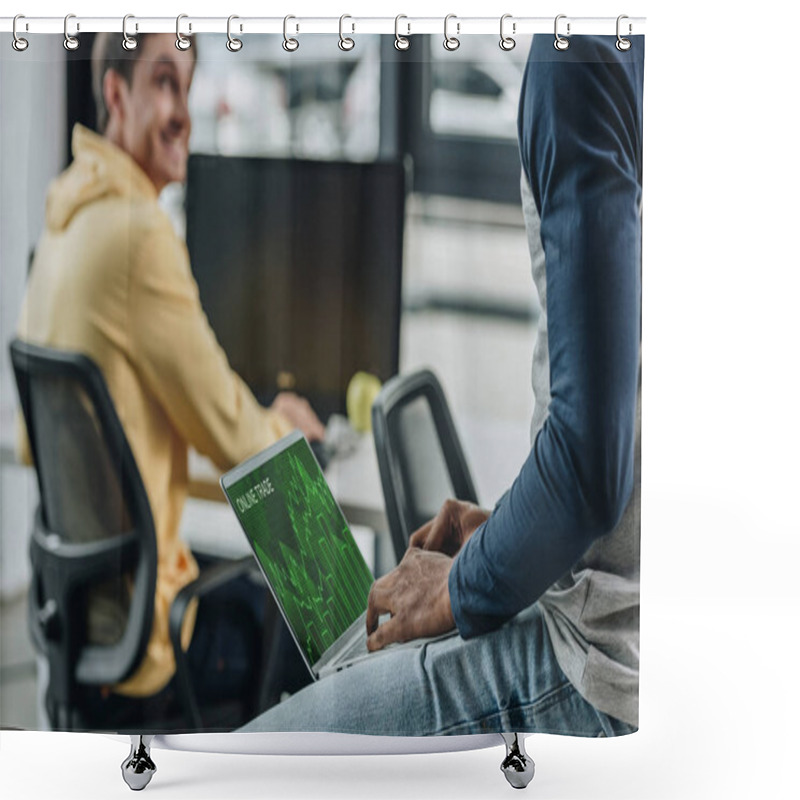
[{"label": "large black computer monitor on desk before man in yellow", "polygon": [[259,400],[291,389],[326,419],[357,371],[397,373],[405,197],[397,162],[190,158],[200,300]]}]

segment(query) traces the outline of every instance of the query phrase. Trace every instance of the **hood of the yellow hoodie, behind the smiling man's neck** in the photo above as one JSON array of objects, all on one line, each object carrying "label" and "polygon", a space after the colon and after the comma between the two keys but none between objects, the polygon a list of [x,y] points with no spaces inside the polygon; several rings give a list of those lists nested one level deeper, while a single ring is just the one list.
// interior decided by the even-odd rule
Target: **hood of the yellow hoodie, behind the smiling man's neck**
[{"label": "hood of the yellow hoodie, behind the smiling man's neck", "polygon": [[152,181],[124,150],[82,125],[72,131],[72,155],[72,164],[47,192],[50,230],[63,230],[81,208],[100,198],[158,199]]}]

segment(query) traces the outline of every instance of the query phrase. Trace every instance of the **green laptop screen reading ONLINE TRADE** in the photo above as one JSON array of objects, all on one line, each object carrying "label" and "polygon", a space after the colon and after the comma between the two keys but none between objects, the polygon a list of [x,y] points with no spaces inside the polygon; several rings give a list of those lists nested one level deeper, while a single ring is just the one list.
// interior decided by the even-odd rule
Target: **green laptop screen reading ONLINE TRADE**
[{"label": "green laptop screen reading ONLINE TRADE", "polygon": [[313,665],[366,610],[373,578],[308,442],[291,436],[226,492]]}]

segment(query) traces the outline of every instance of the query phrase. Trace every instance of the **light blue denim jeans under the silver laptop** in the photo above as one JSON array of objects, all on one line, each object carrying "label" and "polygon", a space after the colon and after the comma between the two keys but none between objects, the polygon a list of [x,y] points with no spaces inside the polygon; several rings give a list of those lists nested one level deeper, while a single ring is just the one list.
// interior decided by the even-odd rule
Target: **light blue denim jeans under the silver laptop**
[{"label": "light blue denim jeans under the silver laptop", "polygon": [[616,736],[556,661],[537,605],[502,628],[389,650],[316,681],[244,727],[388,736],[494,732]]}]

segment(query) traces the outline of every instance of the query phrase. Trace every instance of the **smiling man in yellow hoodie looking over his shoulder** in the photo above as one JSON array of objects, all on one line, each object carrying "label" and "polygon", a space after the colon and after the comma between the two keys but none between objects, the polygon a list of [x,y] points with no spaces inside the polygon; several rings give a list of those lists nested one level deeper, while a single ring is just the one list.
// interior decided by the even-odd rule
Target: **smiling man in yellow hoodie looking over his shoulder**
[{"label": "smiling man in yellow hoodie looking over his shoulder", "polygon": [[[175,672],[168,612],[198,575],[178,536],[188,447],[226,470],[295,427],[312,440],[324,435],[302,398],[283,393],[271,408],[259,405],[209,327],[186,246],[158,204],[161,190],[186,176],[196,44],[180,51],[167,34],[140,35],[138,42],[127,52],[118,36],[97,36],[92,77],[100,133],[80,125],[73,131],[74,161],[49,190],[18,328],[24,340],[84,353],[100,367],[152,509],[158,542],[152,634],[139,668],[105,687],[100,707],[120,697],[158,698]],[[266,595],[251,581],[228,591],[235,598],[223,591],[204,601],[197,630],[196,608],[187,614],[184,646],[196,645],[190,663],[209,673],[197,682],[201,691],[205,685],[217,691],[221,682],[238,691],[242,670],[252,669],[245,657],[232,666],[230,632],[224,642],[213,639],[202,609],[216,599],[224,618],[225,603],[235,599],[261,618]],[[90,603],[93,641],[107,641],[109,627],[113,638],[104,608],[99,597]],[[206,616],[210,626],[215,615]],[[249,653],[253,646],[247,647]]]}]

